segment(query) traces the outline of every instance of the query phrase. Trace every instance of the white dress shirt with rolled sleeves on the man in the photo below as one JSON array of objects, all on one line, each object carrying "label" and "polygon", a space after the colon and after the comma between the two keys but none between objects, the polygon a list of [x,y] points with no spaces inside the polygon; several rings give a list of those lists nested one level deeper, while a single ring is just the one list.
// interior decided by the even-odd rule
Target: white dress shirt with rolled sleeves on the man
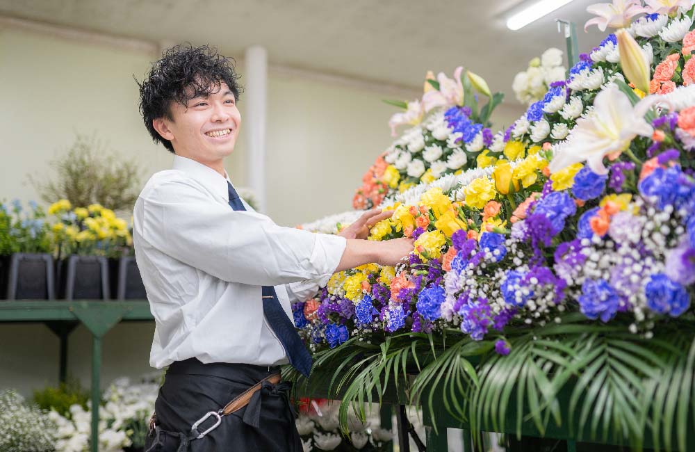
[{"label": "white dress shirt with rolled sleeves on the man", "polygon": [[234,211],[227,181],[174,156],[173,169],[153,175],[135,204],[133,244],[156,323],[149,363],[157,369],[190,357],[286,363],[263,316],[261,286],[275,286],[292,319],[291,303],[325,285],[345,250],[343,237],[281,227],[246,202],[247,211]]}]

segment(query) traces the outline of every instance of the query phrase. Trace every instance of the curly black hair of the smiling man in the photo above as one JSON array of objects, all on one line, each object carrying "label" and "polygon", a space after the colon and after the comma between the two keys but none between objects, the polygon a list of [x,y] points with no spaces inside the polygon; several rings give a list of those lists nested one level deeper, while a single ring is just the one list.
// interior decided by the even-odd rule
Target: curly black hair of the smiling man
[{"label": "curly black hair of the smiling man", "polygon": [[227,83],[238,100],[243,88],[238,83],[239,75],[234,72],[234,63],[234,58],[222,56],[217,49],[206,45],[193,47],[186,42],[165,50],[162,59],[152,63],[147,78],[138,82],[140,114],[152,140],[174,152],[170,140],[162,138],[152,125],[152,120],[157,118],[174,120],[172,102],[186,106],[194,97],[216,92],[215,87],[219,90],[222,82]]}]

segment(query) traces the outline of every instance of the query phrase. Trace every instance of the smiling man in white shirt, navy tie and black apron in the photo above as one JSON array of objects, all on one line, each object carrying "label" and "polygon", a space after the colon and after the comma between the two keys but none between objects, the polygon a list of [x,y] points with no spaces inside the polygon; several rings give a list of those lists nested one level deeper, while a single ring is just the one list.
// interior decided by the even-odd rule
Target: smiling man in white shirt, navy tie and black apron
[{"label": "smiling man in white shirt, navy tie and black apron", "polygon": [[133,211],[133,243],[155,318],[150,364],[168,366],[146,450],[302,451],[280,364],[311,356],[291,321],[336,272],[395,265],[411,239],[366,241],[391,212],[368,211],[338,236],[276,225],[224,170],[241,115],[229,60],[208,47],[165,51],[140,85],[140,112],[172,170],[153,175]]}]

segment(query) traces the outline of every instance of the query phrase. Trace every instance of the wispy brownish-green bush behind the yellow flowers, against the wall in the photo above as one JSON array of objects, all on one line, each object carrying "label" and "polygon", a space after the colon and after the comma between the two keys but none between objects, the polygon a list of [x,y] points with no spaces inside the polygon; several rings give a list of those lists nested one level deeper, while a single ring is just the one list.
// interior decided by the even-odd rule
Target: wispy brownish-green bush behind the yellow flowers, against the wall
[{"label": "wispy brownish-green bush behind the yellow flowers, against the wall", "polygon": [[131,211],[138,199],[140,169],[134,160],[116,159],[116,152],[92,136],[76,134],[74,143],[51,161],[56,179],[29,176],[44,202],[66,199],[74,206],[102,204]]}]

